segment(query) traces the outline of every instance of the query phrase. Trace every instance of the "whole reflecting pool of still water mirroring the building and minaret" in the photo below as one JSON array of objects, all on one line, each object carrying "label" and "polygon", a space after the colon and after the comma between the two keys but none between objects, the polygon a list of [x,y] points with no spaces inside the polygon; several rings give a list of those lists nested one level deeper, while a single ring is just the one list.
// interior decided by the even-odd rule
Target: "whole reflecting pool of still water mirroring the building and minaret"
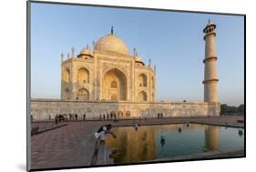
[{"label": "whole reflecting pool of still water mirroring the building and minaret", "polygon": [[244,130],[233,127],[177,124],[112,130],[117,138],[108,137],[107,146],[116,150],[111,157],[117,164],[244,148]]}]

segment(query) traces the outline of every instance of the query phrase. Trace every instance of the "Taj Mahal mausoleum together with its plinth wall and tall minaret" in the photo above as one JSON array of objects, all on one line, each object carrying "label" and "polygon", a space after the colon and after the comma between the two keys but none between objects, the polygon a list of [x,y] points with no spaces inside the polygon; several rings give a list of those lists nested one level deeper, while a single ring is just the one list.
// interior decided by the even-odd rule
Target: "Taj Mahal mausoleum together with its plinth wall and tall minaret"
[{"label": "Taj Mahal mausoleum together with its plinth wall and tall minaret", "polygon": [[[203,102],[156,101],[157,69],[149,60],[146,65],[136,48],[129,54],[128,46],[115,35],[113,27],[75,56],[61,54],[60,99],[31,99],[31,116],[47,119],[61,113],[76,113],[78,117],[98,119],[100,114],[115,114],[118,118],[163,116],[220,116],[218,100],[216,25],[207,23],[203,29],[205,56],[203,60]],[[203,74],[202,74],[203,76]],[[167,79],[168,76],[166,76]]]}]

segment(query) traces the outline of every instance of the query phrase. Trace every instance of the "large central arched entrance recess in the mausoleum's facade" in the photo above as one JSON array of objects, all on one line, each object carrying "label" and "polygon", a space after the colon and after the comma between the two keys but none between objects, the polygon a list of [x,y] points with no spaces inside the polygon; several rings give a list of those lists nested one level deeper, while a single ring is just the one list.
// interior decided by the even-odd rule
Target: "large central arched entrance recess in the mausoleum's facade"
[{"label": "large central arched entrance recess in the mausoleum's facade", "polygon": [[102,98],[105,100],[127,100],[127,77],[117,68],[109,70],[104,75]]}]

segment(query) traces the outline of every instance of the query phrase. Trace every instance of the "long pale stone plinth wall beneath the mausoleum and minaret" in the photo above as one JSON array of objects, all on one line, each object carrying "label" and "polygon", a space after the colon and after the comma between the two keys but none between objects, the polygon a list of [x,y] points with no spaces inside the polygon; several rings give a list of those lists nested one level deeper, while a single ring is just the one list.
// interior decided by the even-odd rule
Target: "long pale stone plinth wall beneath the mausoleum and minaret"
[{"label": "long pale stone plinth wall beneath the mausoleum and minaret", "polygon": [[118,118],[163,116],[220,116],[219,103],[203,102],[109,102],[32,99],[30,114],[36,120],[53,119],[58,114],[77,114],[78,119],[99,119],[100,114]]}]

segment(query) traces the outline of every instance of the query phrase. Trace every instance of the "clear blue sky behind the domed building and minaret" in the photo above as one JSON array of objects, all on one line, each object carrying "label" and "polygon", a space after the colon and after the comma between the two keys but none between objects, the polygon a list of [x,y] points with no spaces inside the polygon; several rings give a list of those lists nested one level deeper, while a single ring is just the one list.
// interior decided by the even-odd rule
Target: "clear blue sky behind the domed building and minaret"
[{"label": "clear blue sky behind the domed building and minaret", "polygon": [[157,100],[203,101],[204,40],[208,19],[217,25],[220,103],[244,101],[243,16],[77,5],[32,4],[31,96],[60,98],[60,53],[114,32],[138,56],[157,66]]}]

